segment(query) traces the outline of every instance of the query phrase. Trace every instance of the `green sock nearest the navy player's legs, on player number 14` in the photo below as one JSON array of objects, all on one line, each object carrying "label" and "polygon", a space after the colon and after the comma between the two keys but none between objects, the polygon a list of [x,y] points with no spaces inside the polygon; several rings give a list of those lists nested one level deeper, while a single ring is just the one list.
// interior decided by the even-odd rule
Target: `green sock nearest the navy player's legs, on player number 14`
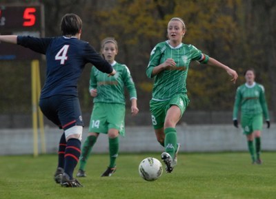
[{"label": "green sock nearest the navy player's legs, on player number 14", "polygon": [[91,149],[96,142],[97,142],[96,136],[88,136],[86,138],[86,141],[83,143],[83,147],[81,149],[81,157],[79,158],[79,163],[80,163],[79,169],[84,171],[88,160],[88,156],[90,155]]}]

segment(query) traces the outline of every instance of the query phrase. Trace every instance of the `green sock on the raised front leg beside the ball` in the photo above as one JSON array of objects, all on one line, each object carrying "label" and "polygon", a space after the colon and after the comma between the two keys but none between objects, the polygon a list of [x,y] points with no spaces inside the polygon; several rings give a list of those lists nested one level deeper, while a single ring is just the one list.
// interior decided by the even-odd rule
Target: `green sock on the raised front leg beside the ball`
[{"label": "green sock on the raised front leg beside the ball", "polygon": [[170,154],[172,158],[174,158],[176,149],[177,131],[175,128],[168,127],[165,129],[165,151]]}]

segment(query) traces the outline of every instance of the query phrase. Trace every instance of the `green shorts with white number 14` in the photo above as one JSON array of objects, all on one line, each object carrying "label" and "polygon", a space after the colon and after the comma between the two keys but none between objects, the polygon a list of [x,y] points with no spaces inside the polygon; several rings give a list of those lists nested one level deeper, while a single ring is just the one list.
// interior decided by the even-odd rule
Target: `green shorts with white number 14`
[{"label": "green shorts with white number 14", "polygon": [[89,132],[107,134],[108,129],[117,129],[125,135],[126,106],[119,103],[95,103],[89,125]]}]

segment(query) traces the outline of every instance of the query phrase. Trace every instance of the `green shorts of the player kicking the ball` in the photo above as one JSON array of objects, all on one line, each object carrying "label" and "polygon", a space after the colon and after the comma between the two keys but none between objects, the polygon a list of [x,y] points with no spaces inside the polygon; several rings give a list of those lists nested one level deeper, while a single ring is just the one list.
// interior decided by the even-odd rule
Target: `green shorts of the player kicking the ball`
[{"label": "green shorts of the player kicking the ball", "polygon": [[166,114],[172,105],[177,105],[177,107],[179,107],[182,116],[189,102],[190,100],[187,94],[175,94],[166,101],[150,100],[150,113],[154,129],[164,127]]}]

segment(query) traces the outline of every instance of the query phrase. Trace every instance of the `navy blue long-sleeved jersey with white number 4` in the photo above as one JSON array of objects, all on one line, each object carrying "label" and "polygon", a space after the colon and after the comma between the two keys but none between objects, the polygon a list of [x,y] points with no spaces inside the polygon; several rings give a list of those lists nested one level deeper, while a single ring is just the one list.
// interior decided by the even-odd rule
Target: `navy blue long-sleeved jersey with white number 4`
[{"label": "navy blue long-sleeved jersey with white number 4", "polygon": [[46,54],[46,82],[40,98],[57,94],[77,96],[77,81],[86,63],[92,63],[101,72],[112,72],[112,66],[88,42],[75,37],[17,36],[17,44]]}]

